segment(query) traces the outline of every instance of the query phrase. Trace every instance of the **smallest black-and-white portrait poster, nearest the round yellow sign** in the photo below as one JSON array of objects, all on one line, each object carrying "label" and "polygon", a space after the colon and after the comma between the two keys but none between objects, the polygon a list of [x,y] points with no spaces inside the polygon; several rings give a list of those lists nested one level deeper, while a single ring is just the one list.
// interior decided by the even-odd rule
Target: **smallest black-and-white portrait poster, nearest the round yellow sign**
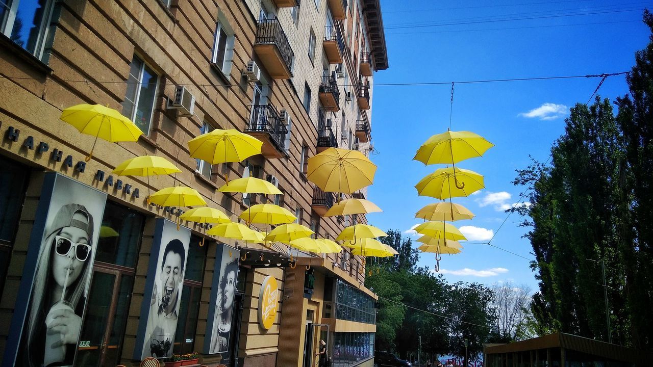
[{"label": "smallest black-and-white portrait poster, nearest the round yellow sign", "polygon": [[204,353],[224,353],[229,347],[231,325],[234,317],[234,298],[238,281],[238,258],[240,251],[219,244],[215,254],[215,270],[206,321]]}]

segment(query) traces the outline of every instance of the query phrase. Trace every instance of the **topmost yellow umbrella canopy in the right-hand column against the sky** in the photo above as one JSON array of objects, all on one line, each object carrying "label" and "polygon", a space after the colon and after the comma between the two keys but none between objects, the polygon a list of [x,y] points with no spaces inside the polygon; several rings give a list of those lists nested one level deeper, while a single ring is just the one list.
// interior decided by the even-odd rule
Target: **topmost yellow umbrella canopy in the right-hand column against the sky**
[{"label": "topmost yellow umbrella canopy in the right-hand column against the sky", "polygon": [[431,136],[419,147],[413,160],[424,165],[453,165],[468,158],[481,157],[494,144],[471,131],[447,131]]}]

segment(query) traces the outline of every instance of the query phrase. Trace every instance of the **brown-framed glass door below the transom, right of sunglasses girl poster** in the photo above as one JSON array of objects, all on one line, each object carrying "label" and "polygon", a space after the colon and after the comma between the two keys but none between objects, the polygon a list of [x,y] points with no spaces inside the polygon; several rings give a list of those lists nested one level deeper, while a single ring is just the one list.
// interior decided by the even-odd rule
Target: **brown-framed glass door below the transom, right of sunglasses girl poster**
[{"label": "brown-framed glass door below the transom, right of sunglasses girl poster", "polygon": [[[113,265],[116,267],[115,265]],[[95,266],[75,364],[119,364],[133,274]]]}]

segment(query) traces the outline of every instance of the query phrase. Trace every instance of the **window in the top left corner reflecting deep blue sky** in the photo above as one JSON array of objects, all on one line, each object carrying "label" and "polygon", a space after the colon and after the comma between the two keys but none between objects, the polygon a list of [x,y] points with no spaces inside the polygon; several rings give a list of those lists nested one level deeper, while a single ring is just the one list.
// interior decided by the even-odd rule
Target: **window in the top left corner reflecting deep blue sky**
[{"label": "window in the top left corner reflecting deep blue sky", "polygon": [[0,31],[30,54],[42,59],[54,0],[0,0]]}]

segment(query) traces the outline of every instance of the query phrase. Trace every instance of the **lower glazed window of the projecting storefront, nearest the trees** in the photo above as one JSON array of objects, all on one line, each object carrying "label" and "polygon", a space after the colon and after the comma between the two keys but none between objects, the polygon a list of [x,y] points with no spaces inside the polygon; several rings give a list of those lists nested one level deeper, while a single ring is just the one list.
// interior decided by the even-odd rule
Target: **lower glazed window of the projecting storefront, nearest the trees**
[{"label": "lower glazed window of the projecting storefront, nearest the trees", "polygon": [[347,367],[374,357],[374,332],[334,332],[333,367]]}]

